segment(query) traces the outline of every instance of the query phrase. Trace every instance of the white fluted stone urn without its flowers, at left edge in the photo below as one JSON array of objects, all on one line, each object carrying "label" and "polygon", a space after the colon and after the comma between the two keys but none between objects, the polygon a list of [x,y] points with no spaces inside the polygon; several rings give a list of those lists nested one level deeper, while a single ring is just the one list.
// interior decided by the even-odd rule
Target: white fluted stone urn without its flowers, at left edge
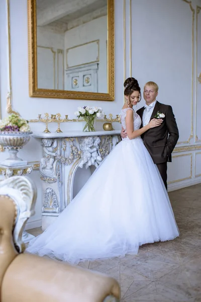
[{"label": "white fluted stone urn without its flowers, at left edge", "polygon": [[8,149],[10,154],[10,157],[0,164],[9,167],[27,165],[27,161],[20,159],[17,154],[19,149],[22,149],[23,146],[30,141],[32,133],[33,132],[0,131],[0,145],[2,145],[4,149]]}]

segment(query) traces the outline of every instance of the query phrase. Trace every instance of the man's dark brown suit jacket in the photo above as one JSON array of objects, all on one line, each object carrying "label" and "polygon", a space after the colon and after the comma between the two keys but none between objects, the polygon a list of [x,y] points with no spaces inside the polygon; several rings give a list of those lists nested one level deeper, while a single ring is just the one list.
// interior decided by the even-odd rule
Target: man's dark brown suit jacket
[{"label": "man's dark brown suit jacket", "polygon": [[[142,119],[144,106],[137,111]],[[150,153],[154,164],[171,162],[171,153],[179,138],[179,131],[172,107],[156,102],[151,119],[157,112],[164,113],[163,123],[155,128],[151,128],[141,135],[144,144]],[[150,119],[150,120],[151,120]],[[143,125],[141,124],[141,128]]]}]

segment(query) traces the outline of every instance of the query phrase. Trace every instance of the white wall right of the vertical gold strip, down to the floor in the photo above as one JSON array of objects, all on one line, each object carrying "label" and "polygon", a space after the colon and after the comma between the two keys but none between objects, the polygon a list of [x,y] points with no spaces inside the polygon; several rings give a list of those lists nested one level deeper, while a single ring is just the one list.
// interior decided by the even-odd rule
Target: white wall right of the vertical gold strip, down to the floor
[{"label": "white wall right of the vertical gold strip, down to the floor", "polygon": [[201,1],[194,0],[191,5],[182,0],[125,2],[126,77],[132,75],[138,79],[142,88],[148,81],[156,82],[157,100],[172,106],[179,128],[172,163],[168,164],[168,188],[174,190],[198,183],[201,176],[198,118],[201,85],[197,82],[201,72],[201,11],[198,13],[196,6]]}]

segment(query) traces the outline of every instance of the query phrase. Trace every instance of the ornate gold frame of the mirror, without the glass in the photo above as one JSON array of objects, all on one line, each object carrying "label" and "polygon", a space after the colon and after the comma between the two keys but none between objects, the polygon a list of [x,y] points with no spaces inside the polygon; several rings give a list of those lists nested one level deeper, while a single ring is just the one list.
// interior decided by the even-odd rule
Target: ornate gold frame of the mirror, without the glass
[{"label": "ornate gold frame of the mirror, without the glass", "polygon": [[79,100],[114,101],[115,99],[115,0],[108,0],[108,92],[78,92],[68,90],[39,89],[37,86],[37,20],[36,0],[28,0],[29,32],[29,94],[36,98],[61,98]]}]

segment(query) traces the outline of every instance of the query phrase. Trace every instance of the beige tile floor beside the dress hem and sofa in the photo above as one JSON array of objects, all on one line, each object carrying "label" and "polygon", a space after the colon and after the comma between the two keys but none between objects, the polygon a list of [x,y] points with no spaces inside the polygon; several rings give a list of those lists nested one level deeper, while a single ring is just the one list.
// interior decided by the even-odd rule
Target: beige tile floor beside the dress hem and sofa
[{"label": "beige tile floor beside the dress hem and sofa", "polygon": [[[122,302],[201,302],[201,184],[169,197],[179,238],[144,245],[136,256],[79,264],[116,278]],[[29,232],[41,233],[39,228]]]}]

